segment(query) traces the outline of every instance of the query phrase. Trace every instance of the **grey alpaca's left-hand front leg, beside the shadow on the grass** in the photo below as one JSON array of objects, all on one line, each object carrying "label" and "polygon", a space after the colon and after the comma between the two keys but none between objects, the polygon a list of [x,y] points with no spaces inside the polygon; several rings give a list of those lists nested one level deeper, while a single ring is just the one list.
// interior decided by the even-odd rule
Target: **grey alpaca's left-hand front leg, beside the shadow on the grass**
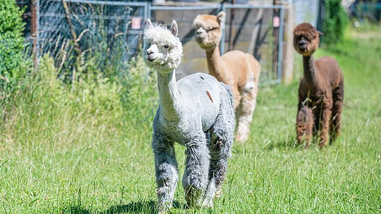
[{"label": "grey alpaca's left-hand front leg, beside the shadow on the grass", "polygon": [[165,214],[172,207],[179,173],[172,142],[165,141],[158,135],[153,135],[153,153],[155,155],[155,171],[157,183],[157,209],[159,214]]}]

